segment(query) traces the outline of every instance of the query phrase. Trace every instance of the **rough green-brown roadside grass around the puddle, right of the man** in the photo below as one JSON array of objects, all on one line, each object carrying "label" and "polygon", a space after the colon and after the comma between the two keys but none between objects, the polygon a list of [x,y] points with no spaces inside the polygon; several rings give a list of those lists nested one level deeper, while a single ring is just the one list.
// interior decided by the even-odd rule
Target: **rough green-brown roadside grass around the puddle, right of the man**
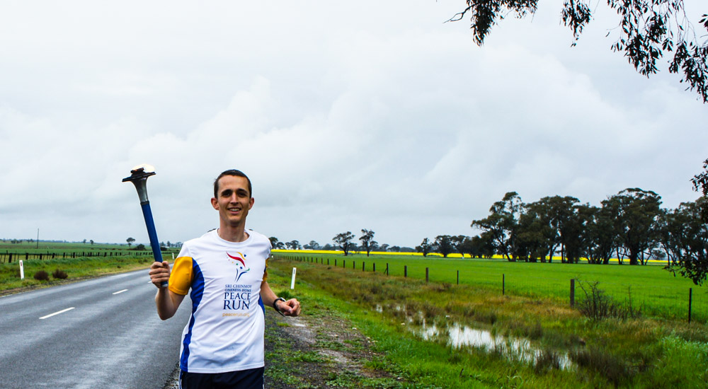
[{"label": "rough green-brown roadside grass around the puddle, right of the man", "polygon": [[[273,260],[269,274],[289,286],[292,267],[297,267],[295,295],[304,314],[326,306],[329,314],[349,320],[373,339],[380,355],[367,366],[403,378],[401,387],[685,388],[701,387],[708,378],[708,332],[700,323],[593,321],[553,296],[500,296],[484,285],[426,284],[360,267]],[[440,334],[424,340],[423,325],[433,324]],[[529,339],[542,356],[532,362],[508,358],[499,349],[452,347],[445,331],[453,325]],[[562,354],[574,367],[558,367]],[[674,359],[678,355],[681,359]]]}]

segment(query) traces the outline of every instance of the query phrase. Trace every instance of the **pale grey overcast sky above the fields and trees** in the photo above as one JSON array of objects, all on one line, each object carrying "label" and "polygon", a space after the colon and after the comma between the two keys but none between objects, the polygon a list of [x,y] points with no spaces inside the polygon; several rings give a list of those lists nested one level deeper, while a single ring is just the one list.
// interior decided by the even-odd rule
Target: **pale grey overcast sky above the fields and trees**
[{"label": "pale grey overcast sky above the fields and trees", "polygon": [[540,3],[477,47],[444,23],[462,0],[4,1],[0,238],[148,243],[121,182],[140,163],[164,242],[218,226],[229,168],[253,182],[248,227],[303,244],[472,235],[509,191],[696,199],[708,105],[666,60],[646,79],[611,52],[602,1],[576,47]]}]

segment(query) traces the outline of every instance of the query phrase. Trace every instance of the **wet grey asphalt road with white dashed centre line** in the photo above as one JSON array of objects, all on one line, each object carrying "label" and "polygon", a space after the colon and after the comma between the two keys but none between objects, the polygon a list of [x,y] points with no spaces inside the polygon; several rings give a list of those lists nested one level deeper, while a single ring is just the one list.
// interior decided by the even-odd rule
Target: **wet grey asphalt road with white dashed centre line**
[{"label": "wet grey asphalt road with white dashed centre line", "polygon": [[189,297],[155,311],[147,270],[0,297],[0,388],[163,388]]}]

